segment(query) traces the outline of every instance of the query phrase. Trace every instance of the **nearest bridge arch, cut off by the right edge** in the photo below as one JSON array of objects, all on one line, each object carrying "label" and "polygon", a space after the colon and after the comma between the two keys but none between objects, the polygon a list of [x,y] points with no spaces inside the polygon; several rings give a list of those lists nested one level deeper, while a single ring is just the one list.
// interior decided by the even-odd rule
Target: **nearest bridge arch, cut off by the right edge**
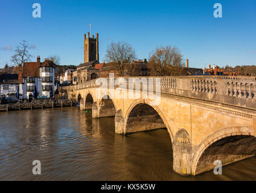
[{"label": "nearest bridge arch, cut off by the right edge", "polygon": [[[236,155],[236,157],[232,157],[232,160],[228,160],[228,156],[226,156],[224,163],[222,160],[222,165],[228,165],[229,163],[234,163],[238,160],[245,159],[246,157],[255,156],[256,138],[254,137],[254,128],[251,126],[224,128],[223,130],[217,131],[216,133],[213,133],[205,138],[194,151],[194,156],[191,162],[192,174],[195,176],[197,174],[209,171],[214,168],[213,160],[211,160],[210,155],[207,155],[207,150],[209,150],[209,152],[213,152],[214,150],[211,150],[210,148],[213,149],[214,147],[221,147],[222,145],[226,145],[227,142],[231,142],[233,144],[232,146],[234,147],[235,141],[243,140],[245,142],[245,138],[248,138],[248,140],[250,141],[250,146],[254,146],[250,149],[250,151],[252,151],[251,155]],[[253,144],[251,142],[253,142]],[[240,147],[239,149],[239,151],[245,151],[246,146],[244,148]],[[205,162],[205,160],[203,160],[204,157],[206,157],[205,159],[208,159],[208,165],[203,165],[203,163]],[[217,160],[216,155],[214,157],[214,160]]]}]

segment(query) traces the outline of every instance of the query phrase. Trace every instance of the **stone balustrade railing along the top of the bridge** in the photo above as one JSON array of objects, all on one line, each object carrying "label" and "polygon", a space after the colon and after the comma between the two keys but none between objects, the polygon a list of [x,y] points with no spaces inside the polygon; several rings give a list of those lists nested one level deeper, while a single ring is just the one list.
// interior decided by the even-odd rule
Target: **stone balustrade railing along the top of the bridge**
[{"label": "stone balustrade railing along the top of the bridge", "polygon": [[[176,77],[125,77],[129,84],[144,89],[160,87],[161,93],[199,98],[218,103],[232,104],[256,109],[256,77],[242,76],[176,76]],[[107,78],[107,81],[109,79]],[[116,78],[115,78],[116,81]],[[62,87],[75,91],[98,87],[97,80],[86,81],[74,86]],[[117,86],[115,86],[117,87]],[[159,89],[158,89],[159,90]]]}]

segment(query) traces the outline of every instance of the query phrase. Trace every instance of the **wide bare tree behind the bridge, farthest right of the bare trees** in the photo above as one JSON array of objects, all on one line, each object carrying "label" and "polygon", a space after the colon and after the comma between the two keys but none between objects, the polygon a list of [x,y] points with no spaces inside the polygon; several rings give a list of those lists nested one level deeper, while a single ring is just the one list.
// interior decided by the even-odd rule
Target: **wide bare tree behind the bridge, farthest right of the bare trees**
[{"label": "wide bare tree behind the bridge, farthest right of the bare trees", "polygon": [[182,54],[175,46],[156,48],[149,58],[150,75],[182,75],[184,66],[182,61]]}]

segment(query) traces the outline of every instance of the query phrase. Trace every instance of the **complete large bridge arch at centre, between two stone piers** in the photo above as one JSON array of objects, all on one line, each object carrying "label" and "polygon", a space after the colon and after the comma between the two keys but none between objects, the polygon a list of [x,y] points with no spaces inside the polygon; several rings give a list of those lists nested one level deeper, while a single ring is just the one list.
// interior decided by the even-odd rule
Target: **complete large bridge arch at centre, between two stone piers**
[{"label": "complete large bridge arch at centre, between two stone piers", "polygon": [[[138,107],[138,108],[136,108],[136,107]],[[135,108],[136,108],[136,110],[138,110],[139,107],[144,107],[147,110],[151,109],[152,113],[154,112],[156,116],[158,115],[159,117],[155,117],[155,118],[158,119],[159,124],[155,125],[155,127],[167,128],[167,131],[170,135],[171,141],[173,141],[173,134],[171,132],[168,121],[165,119],[165,116],[161,112],[159,107],[154,105],[153,101],[151,101],[151,100],[135,100],[135,101],[133,101],[132,104],[130,104],[130,106],[129,106],[127,112],[126,112],[126,115],[124,116],[124,134],[133,133],[133,131],[130,132],[129,130],[127,130],[127,126],[129,126],[129,116],[130,116],[131,112],[135,110]],[[162,123],[160,122],[160,119],[161,119]],[[159,127],[159,126],[161,126],[161,124],[164,125],[164,127]],[[152,130],[152,129],[154,129],[154,128],[150,128],[149,130]],[[157,128],[155,128],[155,129],[157,129]],[[148,129],[146,129],[146,130],[148,130]],[[145,129],[142,129],[142,131],[145,131]]]}]

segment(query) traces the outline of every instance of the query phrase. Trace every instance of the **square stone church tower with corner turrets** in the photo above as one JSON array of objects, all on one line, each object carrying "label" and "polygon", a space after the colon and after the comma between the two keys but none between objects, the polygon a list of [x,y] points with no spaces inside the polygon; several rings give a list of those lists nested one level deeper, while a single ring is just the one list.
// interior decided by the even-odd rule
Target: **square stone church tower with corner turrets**
[{"label": "square stone church tower with corner turrets", "polygon": [[[84,40],[83,40],[83,62],[91,62],[93,60],[98,61],[98,33],[96,34],[96,39],[94,38],[94,35],[90,37],[90,33],[84,34]],[[99,62],[99,61],[98,61]]]}]

